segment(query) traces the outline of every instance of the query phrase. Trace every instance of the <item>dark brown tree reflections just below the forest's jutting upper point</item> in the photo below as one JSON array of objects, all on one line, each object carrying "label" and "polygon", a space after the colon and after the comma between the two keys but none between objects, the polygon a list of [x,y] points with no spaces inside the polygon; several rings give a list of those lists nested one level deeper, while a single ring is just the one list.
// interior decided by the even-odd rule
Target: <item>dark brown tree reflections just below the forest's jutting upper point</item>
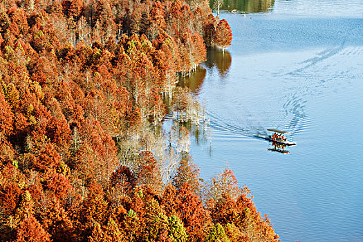
[{"label": "dark brown tree reflections just below the forest's jutting upper point", "polygon": [[187,86],[194,93],[198,93],[201,85],[203,84],[205,75],[207,74],[207,69],[212,69],[214,66],[216,70],[221,75],[221,78],[227,76],[230,71],[230,66],[232,63],[232,56],[228,50],[224,52],[218,48],[209,48],[207,50],[207,60],[187,77],[179,77],[179,85]]}]

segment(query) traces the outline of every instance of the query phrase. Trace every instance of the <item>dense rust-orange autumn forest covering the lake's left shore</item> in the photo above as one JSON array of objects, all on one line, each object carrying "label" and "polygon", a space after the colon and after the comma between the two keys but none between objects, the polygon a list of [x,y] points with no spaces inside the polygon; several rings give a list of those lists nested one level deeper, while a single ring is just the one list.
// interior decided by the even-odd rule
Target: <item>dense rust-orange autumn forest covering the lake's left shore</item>
[{"label": "dense rust-orange autumn forest covering the lake's left shore", "polygon": [[189,97],[176,75],[206,45],[230,45],[207,1],[0,10],[0,241],[278,240],[232,171],[204,183],[187,151],[169,145],[164,158],[166,139],[148,129],[163,97]]}]

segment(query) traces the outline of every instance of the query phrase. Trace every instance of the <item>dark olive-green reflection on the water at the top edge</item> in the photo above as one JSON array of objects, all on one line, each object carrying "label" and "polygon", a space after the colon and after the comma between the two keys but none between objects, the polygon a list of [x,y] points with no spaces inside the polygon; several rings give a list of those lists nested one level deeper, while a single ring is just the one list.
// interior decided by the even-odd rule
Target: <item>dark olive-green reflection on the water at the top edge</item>
[{"label": "dark olive-green reflection on the water at the top edge", "polygon": [[[213,8],[214,1],[210,0],[210,6]],[[274,0],[223,0],[221,10],[237,10],[240,12],[268,12],[272,10]]]}]

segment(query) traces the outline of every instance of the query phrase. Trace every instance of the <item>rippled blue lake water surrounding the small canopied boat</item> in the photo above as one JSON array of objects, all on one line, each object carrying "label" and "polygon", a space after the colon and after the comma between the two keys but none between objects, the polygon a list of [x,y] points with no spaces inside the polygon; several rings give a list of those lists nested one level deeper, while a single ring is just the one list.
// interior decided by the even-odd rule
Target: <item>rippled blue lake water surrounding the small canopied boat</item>
[{"label": "rippled blue lake water surrounding the small canopied boat", "polygon": [[[232,47],[185,80],[210,118],[203,178],[233,169],[282,241],[363,241],[363,1],[242,2],[270,7],[225,11]],[[268,128],[297,146],[268,151]]]}]

